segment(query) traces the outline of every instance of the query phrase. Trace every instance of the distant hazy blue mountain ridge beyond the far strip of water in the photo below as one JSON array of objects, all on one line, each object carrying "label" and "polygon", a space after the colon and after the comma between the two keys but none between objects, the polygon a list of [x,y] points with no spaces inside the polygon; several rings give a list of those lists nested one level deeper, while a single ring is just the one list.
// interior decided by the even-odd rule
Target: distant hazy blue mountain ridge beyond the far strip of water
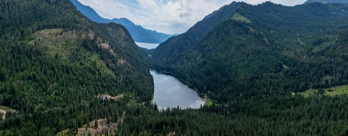
[{"label": "distant hazy blue mountain ridge beyond the far strip of water", "polygon": [[114,18],[114,19],[105,19],[97,14],[92,8],[89,6],[82,5],[77,0],[71,0],[71,2],[76,6],[76,8],[82,12],[85,16],[87,16],[89,19],[98,22],[98,23],[118,23],[123,26],[125,26],[132,38],[135,42],[143,42],[143,43],[162,43],[166,41],[169,37],[176,36],[177,34],[164,34],[164,33],[157,33],[156,31],[151,31],[148,29],[143,28],[140,25],[135,25],[133,22],[126,18]]}]

